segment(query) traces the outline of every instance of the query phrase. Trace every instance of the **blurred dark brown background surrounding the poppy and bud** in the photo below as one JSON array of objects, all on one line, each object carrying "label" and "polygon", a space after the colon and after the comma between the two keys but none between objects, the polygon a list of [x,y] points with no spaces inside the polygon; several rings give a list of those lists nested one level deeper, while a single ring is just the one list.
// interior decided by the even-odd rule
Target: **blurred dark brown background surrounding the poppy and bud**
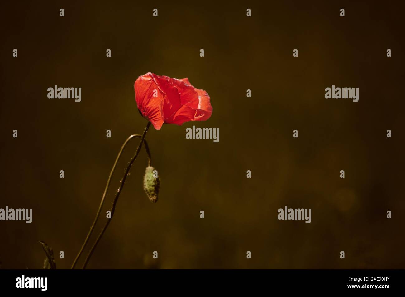
[{"label": "blurred dark brown background surrounding the poppy and bud", "polygon": [[[33,209],[31,224],[0,221],[3,268],[42,268],[38,240],[70,268],[119,147],[146,125],[133,84],[148,71],[188,77],[213,114],[149,130],[160,200],[143,193],[143,151],[88,268],[404,268],[405,7],[324,2],[2,2],[0,208]],[[48,99],[54,84],[82,101]],[[325,99],[332,84],[359,101]],[[185,139],[193,124],[220,142]],[[312,223],[278,221],[284,206]]]}]

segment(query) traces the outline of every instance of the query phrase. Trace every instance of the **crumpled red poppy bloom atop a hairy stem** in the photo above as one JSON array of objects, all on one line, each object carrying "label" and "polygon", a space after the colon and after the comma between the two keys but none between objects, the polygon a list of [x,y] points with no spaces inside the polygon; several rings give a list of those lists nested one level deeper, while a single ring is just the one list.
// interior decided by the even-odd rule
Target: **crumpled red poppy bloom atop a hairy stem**
[{"label": "crumpled red poppy bloom atop a hairy stem", "polygon": [[194,88],[188,78],[179,80],[148,72],[135,80],[134,89],[139,112],[156,130],[163,124],[205,121],[212,114],[209,95]]}]

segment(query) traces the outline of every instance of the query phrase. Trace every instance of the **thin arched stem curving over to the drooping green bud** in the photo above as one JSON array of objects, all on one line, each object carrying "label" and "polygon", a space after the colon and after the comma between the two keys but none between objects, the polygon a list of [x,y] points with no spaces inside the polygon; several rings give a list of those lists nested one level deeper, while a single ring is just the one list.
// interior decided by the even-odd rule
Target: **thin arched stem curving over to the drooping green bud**
[{"label": "thin arched stem curving over to the drooping green bud", "polygon": [[[147,128],[149,128],[149,125],[150,125],[150,123],[147,124]],[[122,152],[124,151],[124,148],[126,147],[126,145],[128,144],[128,142],[129,142],[132,138],[134,138],[134,137],[139,137],[139,138],[141,138],[141,143],[140,143],[138,149],[141,148],[142,141],[145,142],[145,150],[146,150],[146,153],[147,153],[147,155],[148,155],[148,165],[151,166],[151,153],[150,153],[150,151],[149,151],[148,143],[146,142],[146,139],[145,139],[145,134],[146,134],[147,128],[146,128],[146,130],[145,130],[145,132],[144,132],[144,135],[132,134],[130,137],[128,137],[128,138],[126,139],[126,141],[125,141],[124,144],[122,145],[121,150],[119,151],[118,156],[117,156],[117,158],[115,159],[113,168],[111,169],[110,175],[109,175],[109,177],[108,177],[107,185],[105,186],[104,193],[103,193],[103,195],[102,195],[100,205],[98,206],[98,210],[97,210],[97,213],[96,213],[96,217],[95,217],[95,219],[94,219],[94,221],[93,221],[93,224],[92,224],[92,226],[90,227],[90,231],[89,231],[89,233],[87,234],[86,239],[84,240],[83,245],[81,246],[81,249],[80,249],[79,253],[78,253],[77,256],[76,256],[75,261],[73,261],[73,264],[72,264],[72,266],[71,266],[70,269],[74,269],[74,268],[75,268],[75,266],[76,266],[76,264],[77,264],[77,261],[79,260],[79,257],[81,256],[81,254],[83,253],[83,250],[84,250],[85,246],[86,246],[87,243],[89,242],[90,236],[92,236],[92,233],[93,233],[93,231],[94,231],[94,227],[96,227],[96,223],[97,223],[97,221],[98,221],[98,218],[100,217],[100,212],[101,212],[102,206],[104,205],[104,200],[105,200],[105,197],[107,196],[108,189],[109,189],[110,183],[111,183],[111,177],[113,177],[113,173],[114,173],[114,171],[115,171],[115,167],[116,167],[117,164],[118,164],[119,158],[121,157],[121,154],[122,154]],[[142,140],[142,139],[143,139],[143,140]],[[135,157],[135,158],[136,158],[136,157]],[[132,163],[133,163],[133,161],[132,161]],[[126,176],[125,176],[124,178],[126,178]],[[123,181],[124,181],[124,180],[123,180]],[[122,183],[122,186],[123,186],[123,183]],[[111,213],[111,218],[112,218],[112,213]]]}]

